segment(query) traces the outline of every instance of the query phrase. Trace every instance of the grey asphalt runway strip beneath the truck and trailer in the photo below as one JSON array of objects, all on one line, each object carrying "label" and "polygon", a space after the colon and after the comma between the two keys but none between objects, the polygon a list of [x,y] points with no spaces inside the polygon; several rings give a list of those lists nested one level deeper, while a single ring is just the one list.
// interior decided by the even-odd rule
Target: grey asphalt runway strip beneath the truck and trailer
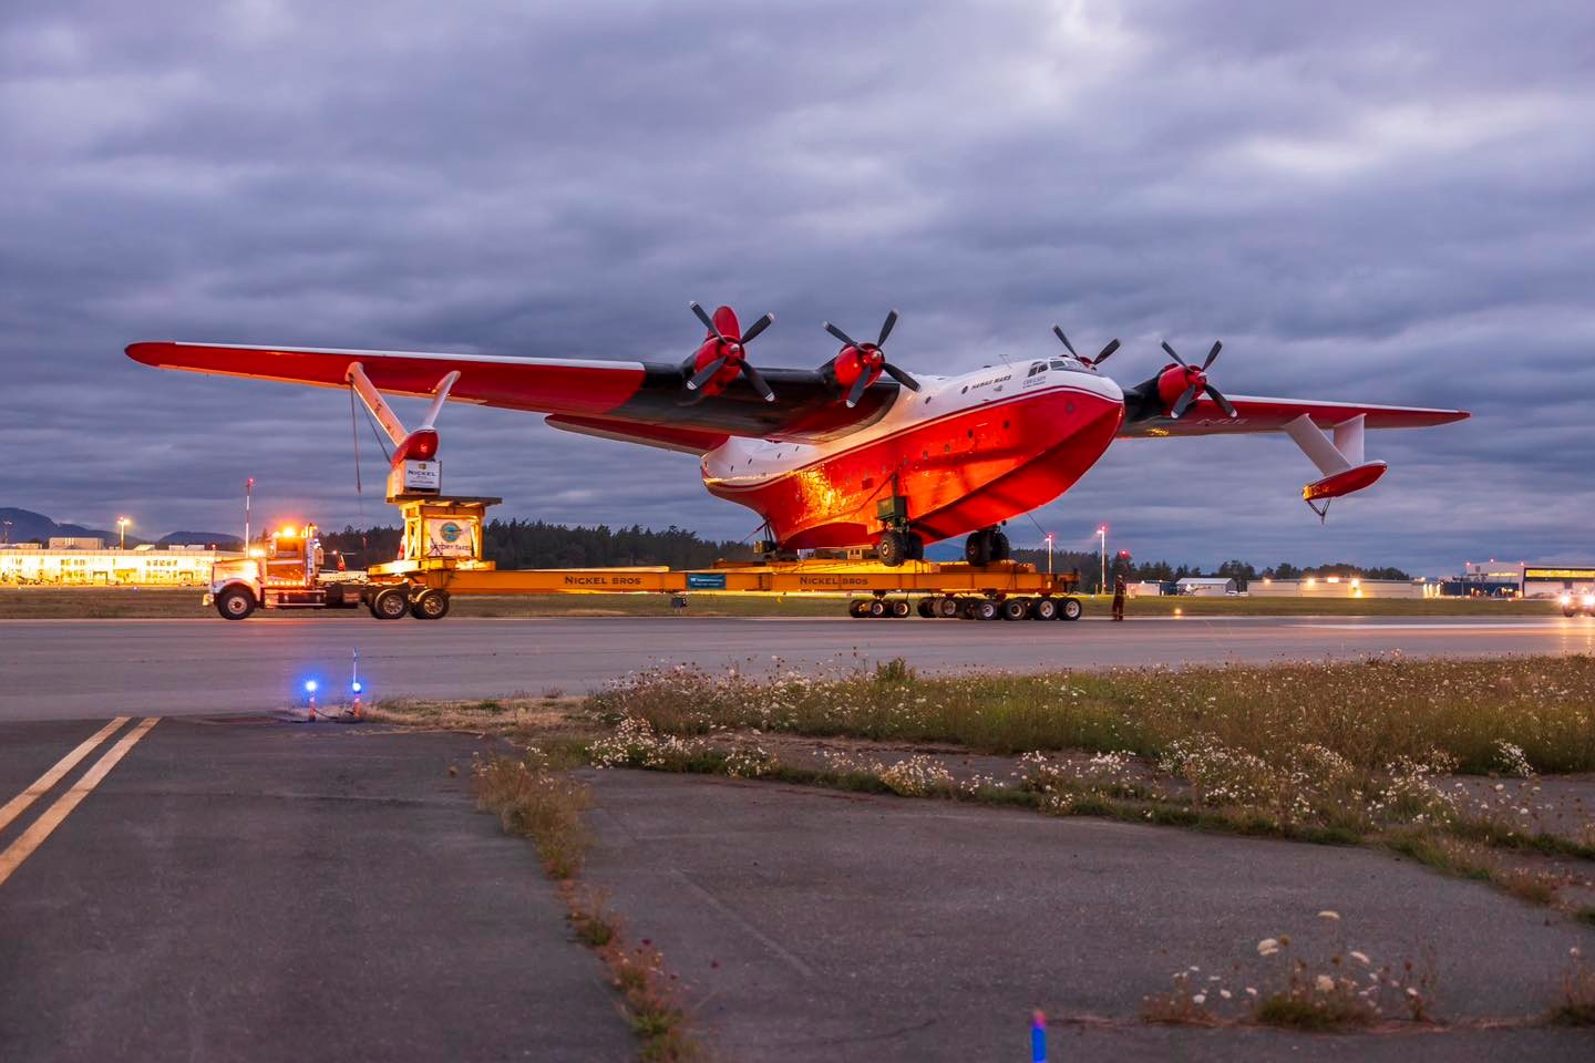
[{"label": "grey asphalt runway strip beneath the truck and trailer", "polygon": [[1324,660],[1400,650],[1491,657],[1595,653],[1595,622],[1145,618],[1126,623],[563,617],[380,623],[364,614],[196,620],[0,622],[0,720],[258,712],[306,677],[368,698],[581,693],[657,665],[850,668],[893,657],[922,671]]}]

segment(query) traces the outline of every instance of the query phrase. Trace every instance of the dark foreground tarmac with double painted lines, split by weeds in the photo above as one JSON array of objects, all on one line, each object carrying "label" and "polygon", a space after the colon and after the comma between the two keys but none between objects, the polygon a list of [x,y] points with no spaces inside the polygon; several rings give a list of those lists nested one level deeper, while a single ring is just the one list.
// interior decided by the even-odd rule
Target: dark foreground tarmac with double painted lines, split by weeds
[{"label": "dark foreground tarmac with double painted lines, split by weeds", "polygon": [[[104,724],[0,724],[0,797]],[[129,738],[91,786],[86,765]],[[485,747],[375,725],[124,722],[0,824],[0,1058],[635,1058],[530,843],[472,806]],[[664,951],[708,1058],[1019,1060],[1032,1009],[1051,1058],[1589,1058],[1587,1031],[1518,1023],[1595,928],[1376,849],[581,775],[584,880]],[[1257,942],[1281,934],[1316,964],[1346,948],[1432,964],[1442,1025],[1139,1022],[1190,967],[1214,993],[1278,988],[1289,956],[1270,966]]]}]

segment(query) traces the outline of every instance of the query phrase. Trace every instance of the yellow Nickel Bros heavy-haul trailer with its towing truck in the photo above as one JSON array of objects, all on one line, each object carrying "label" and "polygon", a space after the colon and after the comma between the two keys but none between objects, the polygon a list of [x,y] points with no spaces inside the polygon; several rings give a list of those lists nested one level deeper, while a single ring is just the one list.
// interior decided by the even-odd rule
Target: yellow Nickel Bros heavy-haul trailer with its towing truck
[{"label": "yellow Nickel Bros heavy-haul trailer with its towing truck", "polygon": [[[217,564],[207,601],[230,620],[257,607],[349,607],[364,604],[378,620],[442,620],[456,594],[671,594],[684,604],[708,594],[850,596],[857,618],[944,617],[967,620],[1078,620],[1073,574],[1037,572],[1032,564],[989,566],[911,561],[887,567],[868,559],[802,559],[761,564],[719,563],[711,569],[499,569],[482,558],[482,526],[490,497],[396,496],[404,515],[397,561],[372,566],[360,580],[319,569],[313,526],[303,532],[303,558],[292,574],[266,563]],[[273,550],[278,543],[273,542]],[[257,551],[258,553],[258,551]],[[234,569],[247,569],[239,574]],[[250,572],[254,580],[241,579]],[[282,577],[282,579],[278,579]]]}]

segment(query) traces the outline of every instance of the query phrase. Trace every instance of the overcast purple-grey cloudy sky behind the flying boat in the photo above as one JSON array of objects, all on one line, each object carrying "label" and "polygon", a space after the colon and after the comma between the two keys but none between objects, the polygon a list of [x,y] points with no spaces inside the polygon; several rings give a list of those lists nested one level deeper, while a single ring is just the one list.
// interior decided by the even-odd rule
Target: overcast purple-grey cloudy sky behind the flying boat
[{"label": "overcast purple-grey cloudy sky behind the flying boat", "polygon": [[[75,3],[0,11],[0,505],[147,534],[386,521],[335,390],[132,339],[681,359],[689,300],[903,311],[951,373],[1120,336],[1230,392],[1461,406],[1327,524],[1284,437],[1128,440],[1014,539],[1137,558],[1595,556],[1595,8]],[[502,515],[742,537],[689,456],[451,406]],[[362,432],[365,432],[362,429]],[[367,461],[370,435],[362,441]]]}]

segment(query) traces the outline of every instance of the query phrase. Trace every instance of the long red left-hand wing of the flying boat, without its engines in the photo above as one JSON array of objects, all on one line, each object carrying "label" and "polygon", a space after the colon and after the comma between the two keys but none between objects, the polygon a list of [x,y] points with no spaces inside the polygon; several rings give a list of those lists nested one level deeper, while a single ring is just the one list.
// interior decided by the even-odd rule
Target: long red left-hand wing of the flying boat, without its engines
[{"label": "long red left-hand wing of the flying boat, without its engines", "polygon": [[849,435],[890,410],[898,384],[882,376],[847,408],[818,370],[761,368],[775,392],[766,402],[745,378],[697,397],[671,362],[520,359],[408,351],[249,347],[211,343],[136,343],[128,357],[163,370],[244,376],[313,387],[348,387],[356,362],[391,395],[432,394],[459,373],[451,402],[555,414],[555,427],[675,449],[710,449],[726,437],[818,441]]}]

